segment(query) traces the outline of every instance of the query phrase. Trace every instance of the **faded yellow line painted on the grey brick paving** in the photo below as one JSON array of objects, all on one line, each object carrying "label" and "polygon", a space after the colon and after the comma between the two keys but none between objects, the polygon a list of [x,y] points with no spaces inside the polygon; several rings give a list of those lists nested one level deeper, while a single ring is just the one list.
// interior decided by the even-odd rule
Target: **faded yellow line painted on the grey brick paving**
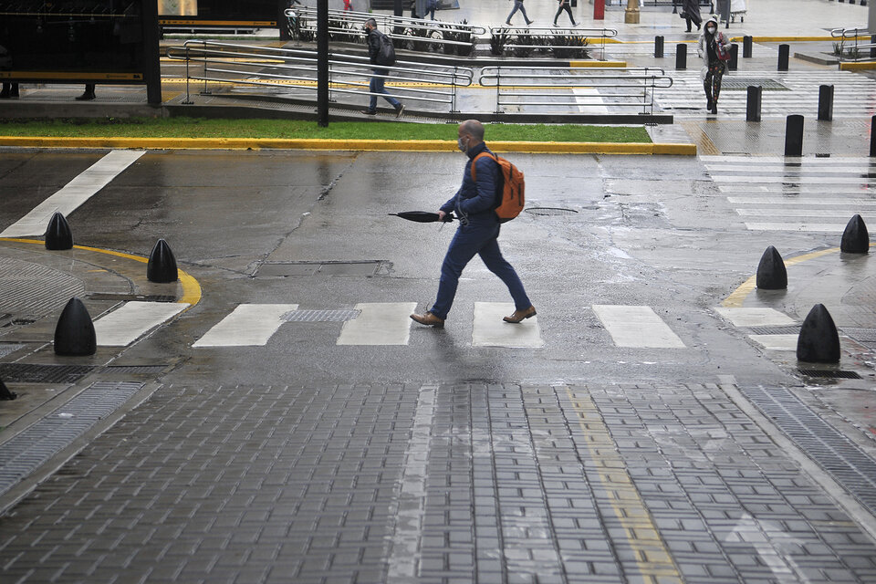
[{"label": "faded yellow line painted on the grey brick paving", "polygon": [[[641,500],[636,485],[633,485],[626,465],[617,454],[616,444],[596,404],[589,395],[573,394],[566,387],[568,399],[578,414],[578,422],[584,433],[590,461],[600,476],[600,483],[609,499],[626,543],[635,554],[635,562],[641,581],[648,584],[683,582],[669,549],[663,543],[651,513]],[[638,581],[638,579],[637,579]]]}]

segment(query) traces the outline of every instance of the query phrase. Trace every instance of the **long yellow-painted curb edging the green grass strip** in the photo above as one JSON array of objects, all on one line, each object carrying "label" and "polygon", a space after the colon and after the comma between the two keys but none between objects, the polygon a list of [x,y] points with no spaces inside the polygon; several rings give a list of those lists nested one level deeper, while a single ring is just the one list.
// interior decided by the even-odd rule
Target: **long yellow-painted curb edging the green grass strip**
[{"label": "long yellow-painted curb edging the green grass strip", "polygon": [[[696,144],[648,142],[489,141],[499,152],[546,154],[666,154],[696,156]],[[455,151],[446,140],[310,140],[271,138],[37,138],[0,136],[16,148],[135,148],[148,150]]]}]

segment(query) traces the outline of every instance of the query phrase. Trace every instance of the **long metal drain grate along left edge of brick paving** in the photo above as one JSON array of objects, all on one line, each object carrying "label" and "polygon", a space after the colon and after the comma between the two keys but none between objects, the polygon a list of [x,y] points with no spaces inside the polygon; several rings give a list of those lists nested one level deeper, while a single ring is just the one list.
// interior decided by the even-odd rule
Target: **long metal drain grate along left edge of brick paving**
[{"label": "long metal drain grate along left edge of brick paving", "polygon": [[0,495],[140,391],[142,383],[94,383],[0,448]]}]

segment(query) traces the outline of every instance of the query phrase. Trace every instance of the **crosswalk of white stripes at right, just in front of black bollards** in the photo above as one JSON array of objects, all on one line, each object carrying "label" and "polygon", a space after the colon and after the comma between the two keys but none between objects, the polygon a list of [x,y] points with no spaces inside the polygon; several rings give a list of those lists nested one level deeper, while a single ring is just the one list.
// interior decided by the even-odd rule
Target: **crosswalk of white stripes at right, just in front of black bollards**
[{"label": "crosswalk of white stripes at right, just in front of black bollards", "polygon": [[[852,215],[876,220],[876,162],[704,156],[705,168],[753,231],[842,233]],[[754,221],[751,221],[754,219]]]}]

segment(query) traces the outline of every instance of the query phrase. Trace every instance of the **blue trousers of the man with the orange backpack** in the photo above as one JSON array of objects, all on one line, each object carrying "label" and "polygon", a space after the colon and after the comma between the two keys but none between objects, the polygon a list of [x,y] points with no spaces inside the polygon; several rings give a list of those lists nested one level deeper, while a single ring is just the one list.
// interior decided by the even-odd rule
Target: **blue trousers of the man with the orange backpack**
[{"label": "blue trousers of the man with the orange backpack", "polygon": [[514,267],[508,264],[499,251],[499,243],[496,241],[498,236],[498,223],[467,224],[460,225],[456,229],[456,235],[447,248],[447,255],[444,255],[444,263],[441,266],[438,298],[429,312],[438,318],[447,318],[447,313],[454,304],[459,276],[475,254],[481,256],[487,269],[505,282],[508,292],[514,298],[514,307],[517,310],[526,310],[532,306]]}]

